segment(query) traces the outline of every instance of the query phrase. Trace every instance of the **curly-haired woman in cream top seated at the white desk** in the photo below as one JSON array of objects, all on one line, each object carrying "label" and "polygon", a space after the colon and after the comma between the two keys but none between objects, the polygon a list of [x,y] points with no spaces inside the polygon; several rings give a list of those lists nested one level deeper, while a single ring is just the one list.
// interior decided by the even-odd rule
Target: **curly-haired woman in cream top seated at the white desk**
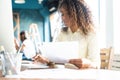
[{"label": "curly-haired woman in cream top seated at the white desk", "polygon": [[[97,34],[94,30],[91,13],[84,0],[60,0],[58,10],[66,27],[62,28],[54,40],[79,42],[79,59],[70,59],[69,63],[80,69],[100,68]],[[42,59],[42,56],[36,57],[37,61],[41,61],[39,59],[49,62],[46,58]]]}]

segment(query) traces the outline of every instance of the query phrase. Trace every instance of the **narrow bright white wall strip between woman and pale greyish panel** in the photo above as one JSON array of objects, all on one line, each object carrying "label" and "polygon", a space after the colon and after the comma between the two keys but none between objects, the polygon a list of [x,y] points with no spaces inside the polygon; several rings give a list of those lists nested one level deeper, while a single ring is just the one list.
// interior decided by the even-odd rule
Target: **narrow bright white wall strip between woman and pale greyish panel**
[{"label": "narrow bright white wall strip between woman and pale greyish panel", "polygon": [[105,48],[106,47],[106,1],[105,0],[100,0],[100,33],[99,33],[99,41],[100,41],[100,47]]}]

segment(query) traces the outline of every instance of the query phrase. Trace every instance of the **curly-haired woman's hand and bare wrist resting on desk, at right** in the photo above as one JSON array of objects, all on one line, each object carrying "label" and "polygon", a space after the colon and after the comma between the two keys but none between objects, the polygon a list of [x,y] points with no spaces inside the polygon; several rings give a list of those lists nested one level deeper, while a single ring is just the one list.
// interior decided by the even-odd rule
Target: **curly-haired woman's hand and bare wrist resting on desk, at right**
[{"label": "curly-haired woman's hand and bare wrist resting on desk, at right", "polygon": [[70,59],[69,63],[74,64],[79,69],[86,69],[91,67],[91,62],[87,59]]}]

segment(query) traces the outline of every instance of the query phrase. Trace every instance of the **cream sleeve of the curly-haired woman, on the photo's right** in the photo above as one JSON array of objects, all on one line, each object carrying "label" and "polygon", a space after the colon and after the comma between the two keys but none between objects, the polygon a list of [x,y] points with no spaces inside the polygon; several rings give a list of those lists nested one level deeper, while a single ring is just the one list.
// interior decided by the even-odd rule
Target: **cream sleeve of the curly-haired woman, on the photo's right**
[{"label": "cream sleeve of the curly-haired woman, on the photo's right", "polygon": [[98,37],[96,34],[92,34],[88,38],[88,56],[87,58],[92,62],[97,68],[100,68],[100,47],[98,42]]}]

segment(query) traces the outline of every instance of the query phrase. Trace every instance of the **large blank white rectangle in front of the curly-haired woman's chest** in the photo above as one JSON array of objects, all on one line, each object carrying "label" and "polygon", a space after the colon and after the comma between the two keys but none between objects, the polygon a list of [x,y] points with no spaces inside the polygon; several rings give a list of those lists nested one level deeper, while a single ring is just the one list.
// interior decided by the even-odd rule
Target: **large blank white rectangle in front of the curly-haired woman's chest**
[{"label": "large blank white rectangle in front of the curly-haired woman's chest", "polygon": [[67,63],[69,59],[79,58],[78,42],[44,42],[42,55],[54,63]]}]

